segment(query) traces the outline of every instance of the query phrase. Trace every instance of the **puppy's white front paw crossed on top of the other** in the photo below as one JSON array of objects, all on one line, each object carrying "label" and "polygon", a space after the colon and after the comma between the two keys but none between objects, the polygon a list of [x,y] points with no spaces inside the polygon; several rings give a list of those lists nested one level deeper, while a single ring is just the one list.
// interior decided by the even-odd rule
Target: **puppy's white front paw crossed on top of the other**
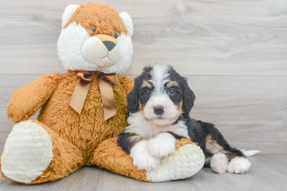
[{"label": "puppy's white front paw crossed on top of the other", "polygon": [[176,139],[169,133],[161,133],[148,141],[148,152],[161,159],[175,151]]}]

